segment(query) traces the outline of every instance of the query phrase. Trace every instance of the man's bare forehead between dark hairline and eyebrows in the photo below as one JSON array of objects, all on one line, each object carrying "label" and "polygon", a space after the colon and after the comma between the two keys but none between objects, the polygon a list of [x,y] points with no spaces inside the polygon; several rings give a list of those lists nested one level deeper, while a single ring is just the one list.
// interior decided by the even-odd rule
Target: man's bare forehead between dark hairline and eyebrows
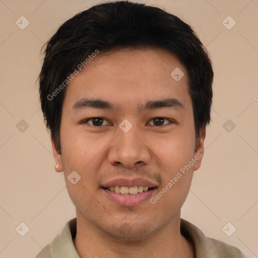
[{"label": "man's bare forehead between dark hairline and eyebrows", "polygon": [[[173,71],[182,78],[175,80]],[[100,51],[70,82],[64,104],[74,106],[84,97],[112,101],[121,109],[168,97],[182,103],[189,100],[187,71],[163,49]]]}]

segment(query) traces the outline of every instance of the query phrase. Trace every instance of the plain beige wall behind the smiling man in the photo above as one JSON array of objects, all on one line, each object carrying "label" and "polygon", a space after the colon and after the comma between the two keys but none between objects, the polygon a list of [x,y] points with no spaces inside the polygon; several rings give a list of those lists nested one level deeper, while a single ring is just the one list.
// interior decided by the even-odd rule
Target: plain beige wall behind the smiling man
[{"label": "plain beige wall behind the smiling man", "polygon": [[[0,258],[35,257],[75,217],[63,174],[54,171],[36,79],[43,43],[68,18],[97,3],[0,0]],[[145,3],[165,8],[195,28],[215,70],[213,121],[182,218],[207,236],[258,257],[258,2]],[[16,25],[21,16],[30,22],[24,30]],[[222,24],[228,16],[236,21],[230,30]],[[16,127],[21,119],[29,125],[24,132]],[[223,127],[228,119],[236,125],[231,132]],[[30,229],[25,236],[16,231],[22,222]],[[228,222],[236,227],[230,237],[222,230]]]}]

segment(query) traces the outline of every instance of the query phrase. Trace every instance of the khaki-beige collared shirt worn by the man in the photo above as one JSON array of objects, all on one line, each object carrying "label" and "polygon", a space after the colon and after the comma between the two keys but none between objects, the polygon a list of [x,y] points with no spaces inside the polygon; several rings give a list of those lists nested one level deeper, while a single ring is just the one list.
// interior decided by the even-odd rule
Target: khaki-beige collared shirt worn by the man
[{"label": "khaki-beige collared shirt worn by the man", "polygon": [[[76,218],[68,221],[61,233],[36,258],[80,258],[73,242],[76,223]],[[238,248],[206,237],[198,227],[184,219],[180,219],[180,231],[195,246],[196,258],[245,258]]]}]

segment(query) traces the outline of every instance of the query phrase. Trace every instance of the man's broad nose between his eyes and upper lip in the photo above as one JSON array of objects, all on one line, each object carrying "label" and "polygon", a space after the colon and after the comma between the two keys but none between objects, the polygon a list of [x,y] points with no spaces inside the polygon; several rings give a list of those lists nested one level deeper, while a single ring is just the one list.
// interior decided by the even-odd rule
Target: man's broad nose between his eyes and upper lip
[{"label": "man's broad nose between his eyes and upper lip", "polygon": [[133,126],[124,133],[118,128],[118,136],[112,141],[108,162],[113,166],[134,168],[146,165],[151,160],[151,151],[143,134]]}]

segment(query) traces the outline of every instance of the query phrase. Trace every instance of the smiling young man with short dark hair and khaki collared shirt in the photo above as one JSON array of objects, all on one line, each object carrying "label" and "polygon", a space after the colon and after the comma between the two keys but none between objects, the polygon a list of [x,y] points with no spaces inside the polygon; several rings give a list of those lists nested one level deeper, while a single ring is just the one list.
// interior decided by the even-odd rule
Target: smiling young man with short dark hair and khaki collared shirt
[{"label": "smiling young man with short dark hair and khaki collared shirt", "polygon": [[210,122],[213,70],[190,26],[96,5],[46,45],[40,100],[76,218],[42,257],[244,257],[180,219]]}]

